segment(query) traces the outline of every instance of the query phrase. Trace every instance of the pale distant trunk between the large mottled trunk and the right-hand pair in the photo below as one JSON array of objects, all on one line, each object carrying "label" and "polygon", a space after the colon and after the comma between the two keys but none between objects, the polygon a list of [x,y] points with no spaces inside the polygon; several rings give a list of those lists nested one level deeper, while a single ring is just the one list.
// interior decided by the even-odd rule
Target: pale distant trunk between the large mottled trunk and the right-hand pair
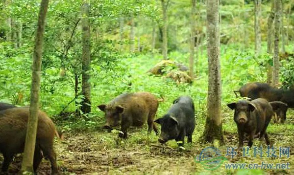
[{"label": "pale distant trunk between the large mottled trunk and the right-hand pair", "polygon": [[255,32],[255,53],[261,52],[261,33],[260,33],[260,18],[261,18],[261,0],[254,0],[254,32]]}]

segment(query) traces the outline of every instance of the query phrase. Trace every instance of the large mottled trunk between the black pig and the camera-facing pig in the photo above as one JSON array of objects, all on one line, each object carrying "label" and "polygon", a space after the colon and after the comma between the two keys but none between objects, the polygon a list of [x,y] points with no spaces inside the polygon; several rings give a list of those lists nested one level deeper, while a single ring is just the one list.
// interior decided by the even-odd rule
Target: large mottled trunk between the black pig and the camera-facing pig
[{"label": "large mottled trunk between the black pig and the camera-facing pig", "polygon": [[206,141],[223,142],[221,127],[221,64],[219,0],[206,1],[207,13],[207,56],[208,56],[208,97],[207,118],[204,131]]}]

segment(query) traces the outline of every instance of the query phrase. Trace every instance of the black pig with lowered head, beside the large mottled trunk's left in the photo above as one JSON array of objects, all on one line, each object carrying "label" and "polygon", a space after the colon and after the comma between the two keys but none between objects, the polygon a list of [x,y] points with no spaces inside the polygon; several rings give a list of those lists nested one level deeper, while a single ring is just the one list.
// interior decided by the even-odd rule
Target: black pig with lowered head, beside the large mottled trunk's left
[{"label": "black pig with lowered head, beside the large mottled trunk's left", "polygon": [[188,143],[192,143],[192,134],[195,129],[195,107],[189,96],[180,96],[173,101],[172,107],[162,117],[154,121],[161,125],[161,133],[158,138],[160,143],[169,140],[181,141],[178,146],[185,143],[185,136],[188,136]]}]

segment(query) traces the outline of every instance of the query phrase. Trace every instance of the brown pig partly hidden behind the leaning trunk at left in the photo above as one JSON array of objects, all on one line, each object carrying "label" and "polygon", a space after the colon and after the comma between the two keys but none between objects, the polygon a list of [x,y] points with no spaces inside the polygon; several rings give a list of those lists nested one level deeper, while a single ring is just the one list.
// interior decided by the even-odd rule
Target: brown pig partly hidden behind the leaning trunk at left
[{"label": "brown pig partly hidden behind the leaning trunk at left", "polygon": [[[0,111],[0,153],[4,157],[2,172],[7,172],[15,154],[24,152],[28,115],[29,108],[12,108]],[[45,112],[39,110],[33,162],[34,172],[37,171],[44,155],[51,163],[51,173],[59,174],[56,154],[53,150],[55,135],[59,137],[52,120]]]}]

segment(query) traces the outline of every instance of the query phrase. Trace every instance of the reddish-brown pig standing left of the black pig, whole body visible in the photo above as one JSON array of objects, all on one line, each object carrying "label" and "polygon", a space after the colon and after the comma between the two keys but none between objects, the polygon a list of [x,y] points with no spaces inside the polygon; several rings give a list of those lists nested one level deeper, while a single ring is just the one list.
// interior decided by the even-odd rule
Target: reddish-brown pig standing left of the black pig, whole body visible
[{"label": "reddish-brown pig standing left of the black pig, whole body visible", "polygon": [[99,105],[105,113],[106,125],[104,128],[121,126],[119,137],[127,138],[127,129],[131,126],[143,126],[146,121],[148,132],[153,130],[158,134],[153,123],[157,108],[157,98],[149,92],[123,93],[114,98],[109,104]]}]

